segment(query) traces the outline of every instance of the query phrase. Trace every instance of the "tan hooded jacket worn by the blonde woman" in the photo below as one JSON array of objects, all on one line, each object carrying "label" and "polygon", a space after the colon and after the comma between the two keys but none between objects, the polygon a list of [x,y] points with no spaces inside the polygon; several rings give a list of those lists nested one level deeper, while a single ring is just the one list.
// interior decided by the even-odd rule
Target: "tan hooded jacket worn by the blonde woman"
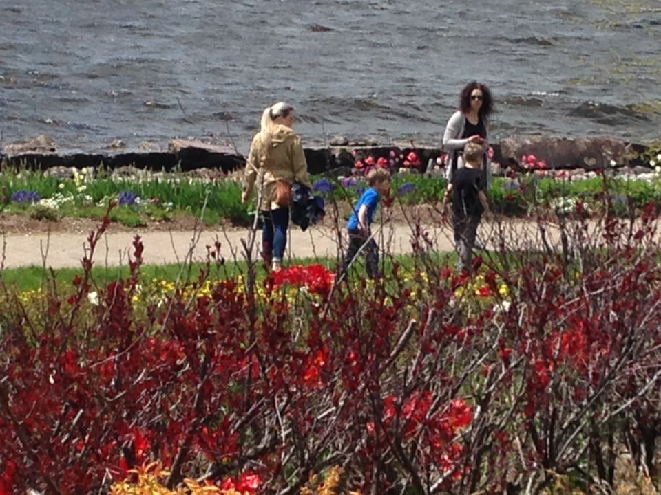
[{"label": "tan hooded jacket worn by the blonde woman", "polygon": [[250,145],[241,200],[244,203],[249,201],[253,189],[256,189],[260,198],[258,211],[275,210],[280,208],[273,202],[275,181],[283,180],[293,184],[296,179],[311,187],[308,179],[308,164],[305,161],[300,136],[287,126],[278,125],[273,132],[271,150],[263,168],[260,166],[260,157],[264,155],[262,146],[264,145],[261,134],[257,133]]}]

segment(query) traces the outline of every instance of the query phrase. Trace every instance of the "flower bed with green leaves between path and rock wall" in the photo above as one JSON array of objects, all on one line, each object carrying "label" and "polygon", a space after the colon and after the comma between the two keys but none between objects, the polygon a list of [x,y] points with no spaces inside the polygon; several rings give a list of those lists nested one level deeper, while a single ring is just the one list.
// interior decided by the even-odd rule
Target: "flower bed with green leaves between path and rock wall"
[{"label": "flower bed with green leaves between path and rock wall", "polygon": [[[410,164],[409,159],[415,158],[404,157],[404,162]],[[352,177],[313,177],[315,190],[327,203],[353,203],[366,187],[361,175],[366,168],[388,166],[388,161],[379,164],[379,160],[365,159],[361,164],[358,174]],[[392,180],[391,195],[406,208],[415,204],[436,204],[444,190],[443,177],[397,173]],[[529,173],[496,177],[489,191],[494,212],[507,216],[524,216],[540,210],[569,214],[576,210],[598,213],[606,209],[631,215],[648,203],[658,205],[660,193],[660,179],[603,176],[573,179],[562,171],[554,177]],[[169,221],[177,215],[202,218],[210,225],[224,221],[249,225],[250,211],[254,208],[241,204],[238,177],[193,179],[170,174],[110,179],[99,177],[98,173],[95,176],[90,169],[76,170],[72,179],[25,171],[18,175],[0,175],[3,212],[30,214],[36,219],[53,221],[62,217],[100,219],[109,201],[117,201],[120,206],[112,211],[111,220],[129,226]]]}]

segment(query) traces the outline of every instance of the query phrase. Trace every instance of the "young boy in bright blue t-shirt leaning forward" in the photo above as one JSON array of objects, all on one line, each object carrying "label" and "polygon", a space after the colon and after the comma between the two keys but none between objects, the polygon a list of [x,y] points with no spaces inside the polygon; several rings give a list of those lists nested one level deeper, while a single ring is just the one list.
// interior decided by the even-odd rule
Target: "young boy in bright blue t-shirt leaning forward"
[{"label": "young boy in bright blue t-shirt leaning forward", "polygon": [[379,274],[379,248],[371,237],[370,225],[374,220],[381,196],[390,190],[390,172],[385,168],[377,167],[370,170],[367,175],[368,188],[353,207],[353,212],[346,224],[349,234],[349,247],[342,262],[343,276],[353,263],[357,254],[364,249],[366,255],[366,270],[368,278],[377,278]]}]

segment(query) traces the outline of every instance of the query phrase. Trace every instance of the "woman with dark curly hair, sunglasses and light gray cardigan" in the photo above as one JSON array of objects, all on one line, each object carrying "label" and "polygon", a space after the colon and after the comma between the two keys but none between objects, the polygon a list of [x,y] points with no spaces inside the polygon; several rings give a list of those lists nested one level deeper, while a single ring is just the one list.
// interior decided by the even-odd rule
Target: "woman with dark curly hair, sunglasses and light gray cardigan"
[{"label": "woman with dark curly hair, sunglasses and light gray cardigan", "polygon": [[[484,151],[489,147],[489,115],[493,111],[493,98],[486,85],[472,81],[465,85],[459,94],[459,110],[452,114],[443,134],[443,151],[448,153],[445,164],[445,178],[448,184],[452,181],[452,173],[463,167],[463,147],[468,142],[482,144]],[[487,154],[483,159],[485,184],[491,181],[490,166]]]}]

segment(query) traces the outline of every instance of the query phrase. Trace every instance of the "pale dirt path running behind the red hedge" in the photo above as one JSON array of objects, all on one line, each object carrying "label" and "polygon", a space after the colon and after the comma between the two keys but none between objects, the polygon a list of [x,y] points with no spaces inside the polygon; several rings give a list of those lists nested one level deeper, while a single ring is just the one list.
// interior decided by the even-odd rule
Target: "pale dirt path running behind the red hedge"
[{"label": "pale dirt path running behind the red hedge", "polygon": [[[512,245],[521,247],[522,243],[526,243],[529,248],[541,247],[536,225],[533,223],[512,222],[506,225],[505,230],[506,239],[510,239]],[[479,236],[488,245],[493,232],[492,225],[485,223],[481,226]],[[189,252],[194,261],[202,261],[207,256],[206,246],[213,245],[216,238],[222,243],[221,252],[225,259],[233,259],[234,256],[242,259],[242,239],[247,239],[248,230],[230,228],[197,233],[193,230],[155,232],[140,229],[114,230],[111,226],[98,245],[94,256],[95,264],[126,265],[127,255],[133,252],[132,242],[136,235],[141,236],[145,245],[143,253],[145,263],[161,264],[183,261]],[[551,236],[555,237],[554,232]],[[197,242],[193,241],[193,237],[196,237]],[[454,249],[452,230],[448,226],[428,228],[428,238],[434,250]],[[7,234],[4,236],[4,267],[42,265],[44,256],[45,264],[50,267],[79,267],[85,253],[86,239],[87,234],[82,232]],[[259,234],[257,239],[259,241]],[[401,223],[385,225],[378,231],[376,239],[379,245],[382,248],[385,246],[389,252],[400,254],[412,251],[412,234],[408,225]],[[510,244],[510,241],[506,244]],[[554,239],[554,242],[557,240]],[[258,245],[255,244],[255,252],[257,248]],[[287,256],[294,258],[337,256],[337,235],[328,228],[311,228],[307,232],[293,228],[289,236]]]}]

